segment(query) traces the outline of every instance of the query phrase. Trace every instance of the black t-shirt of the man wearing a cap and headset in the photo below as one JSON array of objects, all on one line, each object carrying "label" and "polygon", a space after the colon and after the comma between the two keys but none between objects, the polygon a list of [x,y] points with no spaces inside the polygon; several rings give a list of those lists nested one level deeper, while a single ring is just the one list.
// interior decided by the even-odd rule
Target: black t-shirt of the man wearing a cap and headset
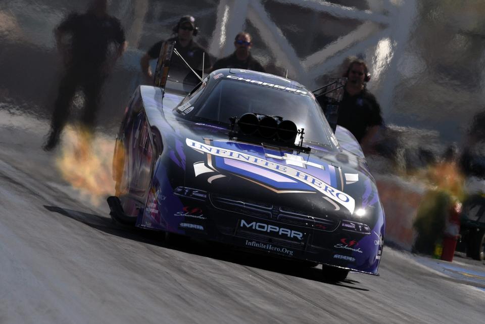
[{"label": "black t-shirt of the man wearing a cap and headset", "polygon": [[[190,65],[190,67],[196,71],[202,71],[202,59],[204,57],[204,68],[208,69],[211,67],[211,59],[209,55],[207,55],[206,51],[195,41],[190,40],[186,47],[182,47],[178,42],[178,37],[172,37],[167,39],[167,41],[174,41],[175,40],[175,49],[180,53],[180,55],[184,58],[185,61]],[[160,55],[160,50],[162,49],[162,43],[164,40],[161,40],[155,43],[150,50],[148,50],[148,55],[152,59],[158,59]],[[174,53],[172,55],[172,68],[179,68],[179,69],[187,69],[185,63]]]}]

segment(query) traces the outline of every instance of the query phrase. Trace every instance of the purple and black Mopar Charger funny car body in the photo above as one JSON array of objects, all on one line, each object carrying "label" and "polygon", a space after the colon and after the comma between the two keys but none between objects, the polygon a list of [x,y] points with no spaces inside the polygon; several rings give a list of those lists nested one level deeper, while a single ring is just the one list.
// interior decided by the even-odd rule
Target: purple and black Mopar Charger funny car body
[{"label": "purple and black Mopar Charger funny car body", "polygon": [[333,133],[295,81],[222,69],[187,96],[140,86],[114,179],[108,201],[121,222],[321,263],[329,280],[378,275],[384,212],[374,178],[352,134]]}]

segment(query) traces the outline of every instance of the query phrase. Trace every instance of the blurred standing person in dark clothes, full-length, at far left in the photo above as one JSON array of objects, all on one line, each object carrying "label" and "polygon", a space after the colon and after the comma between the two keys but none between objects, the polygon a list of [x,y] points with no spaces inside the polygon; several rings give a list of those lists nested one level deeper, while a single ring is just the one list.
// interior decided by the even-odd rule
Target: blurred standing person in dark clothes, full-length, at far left
[{"label": "blurred standing person in dark clothes, full-length, at far left", "polygon": [[51,130],[43,146],[46,151],[53,150],[59,143],[72,99],[79,87],[85,97],[81,124],[87,132],[93,132],[102,86],[127,46],[120,21],[107,13],[107,0],[93,0],[85,14],[69,15],[56,28],[55,36],[65,72],[59,86]]}]

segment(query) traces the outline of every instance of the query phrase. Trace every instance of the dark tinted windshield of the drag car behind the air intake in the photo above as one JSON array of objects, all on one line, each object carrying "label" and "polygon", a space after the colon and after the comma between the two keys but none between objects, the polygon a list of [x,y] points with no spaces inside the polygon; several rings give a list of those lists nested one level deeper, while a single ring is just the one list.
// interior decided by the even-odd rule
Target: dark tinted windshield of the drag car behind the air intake
[{"label": "dark tinted windshield of the drag car behind the air intake", "polygon": [[222,79],[208,98],[195,103],[190,115],[229,125],[230,117],[240,117],[245,113],[289,119],[298,129],[305,129],[304,142],[336,149],[335,137],[315,100],[284,89]]}]

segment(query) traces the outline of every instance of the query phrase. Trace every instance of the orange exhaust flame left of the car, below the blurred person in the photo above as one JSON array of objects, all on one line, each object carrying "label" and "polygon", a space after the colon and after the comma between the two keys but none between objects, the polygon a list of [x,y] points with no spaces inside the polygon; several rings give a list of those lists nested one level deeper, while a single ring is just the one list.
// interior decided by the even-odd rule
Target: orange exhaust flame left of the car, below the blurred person
[{"label": "orange exhaust flame left of the car, below the blurred person", "polygon": [[102,136],[95,138],[87,131],[75,131],[72,127],[66,127],[64,134],[57,167],[82,197],[99,206],[106,196],[113,195],[115,189],[112,176],[115,141]]}]

